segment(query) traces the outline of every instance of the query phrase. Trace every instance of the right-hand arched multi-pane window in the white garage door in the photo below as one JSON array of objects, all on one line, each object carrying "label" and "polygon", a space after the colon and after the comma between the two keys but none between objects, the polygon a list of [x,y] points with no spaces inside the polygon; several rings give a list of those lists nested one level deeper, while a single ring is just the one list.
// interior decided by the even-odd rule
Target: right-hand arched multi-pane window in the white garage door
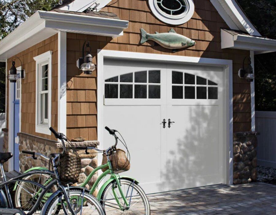
[{"label": "right-hand arched multi-pane window in the white garage door", "polygon": [[204,77],[172,71],[173,99],[217,99],[217,86],[217,83]]}]

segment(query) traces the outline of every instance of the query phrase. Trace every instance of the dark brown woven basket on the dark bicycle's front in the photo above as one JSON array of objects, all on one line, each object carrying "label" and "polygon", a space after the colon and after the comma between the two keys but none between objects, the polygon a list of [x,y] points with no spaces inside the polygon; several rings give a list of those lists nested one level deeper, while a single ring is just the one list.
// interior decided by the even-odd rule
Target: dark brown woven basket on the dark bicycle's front
[{"label": "dark brown woven basket on the dark bicycle's front", "polygon": [[79,181],[81,170],[81,160],[78,154],[66,152],[59,157],[59,165],[57,167],[59,180],[62,183],[76,183]]}]

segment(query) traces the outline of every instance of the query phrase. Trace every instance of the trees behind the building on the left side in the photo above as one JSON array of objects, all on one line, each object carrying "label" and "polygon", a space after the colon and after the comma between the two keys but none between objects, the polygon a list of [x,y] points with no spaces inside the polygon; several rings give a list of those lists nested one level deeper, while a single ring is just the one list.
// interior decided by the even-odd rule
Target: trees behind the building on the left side
[{"label": "trees behind the building on the left side", "polygon": [[[0,40],[37,10],[51,10],[58,0],[0,0]],[[5,112],[6,65],[0,62],[0,112]]]}]

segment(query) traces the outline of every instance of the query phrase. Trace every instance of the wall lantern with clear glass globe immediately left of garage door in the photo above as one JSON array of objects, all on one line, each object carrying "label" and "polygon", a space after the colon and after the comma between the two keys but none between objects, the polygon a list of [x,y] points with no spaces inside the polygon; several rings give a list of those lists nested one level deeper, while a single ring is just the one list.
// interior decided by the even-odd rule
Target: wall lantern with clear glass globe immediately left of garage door
[{"label": "wall lantern with clear glass globe immediately left of garage door", "polygon": [[[84,49],[88,49],[86,56],[84,56]],[[91,47],[88,41],[82,45],[82,57],[77,61],[77,67],[84,72],[84,74],[91,74],[96,66],[92,63],[92,55],[90,54]]]}]

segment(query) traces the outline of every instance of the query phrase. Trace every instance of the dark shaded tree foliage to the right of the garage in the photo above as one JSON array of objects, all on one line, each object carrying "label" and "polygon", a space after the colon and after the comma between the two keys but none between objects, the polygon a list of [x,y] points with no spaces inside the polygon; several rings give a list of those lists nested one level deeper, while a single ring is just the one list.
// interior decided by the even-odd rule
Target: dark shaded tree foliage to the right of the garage
[{"label": "dark shaded tree foliage to the right of the garage", "polygon": [[[237,0],[264,37],[276,39],[276,0]],[[276,111],[276,54],[255,55],[255,107]]]}]

